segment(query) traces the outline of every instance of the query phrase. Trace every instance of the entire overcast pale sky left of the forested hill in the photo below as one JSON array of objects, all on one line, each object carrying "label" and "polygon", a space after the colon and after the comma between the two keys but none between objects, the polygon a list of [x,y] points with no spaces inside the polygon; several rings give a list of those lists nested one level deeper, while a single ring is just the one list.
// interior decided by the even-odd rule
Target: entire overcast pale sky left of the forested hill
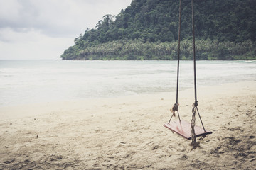
[{"label": "entire overcast pale sky left of the forested hill", "polygon": [[0,60],[60,60],[105,14],[132,0],[0,0]]}]

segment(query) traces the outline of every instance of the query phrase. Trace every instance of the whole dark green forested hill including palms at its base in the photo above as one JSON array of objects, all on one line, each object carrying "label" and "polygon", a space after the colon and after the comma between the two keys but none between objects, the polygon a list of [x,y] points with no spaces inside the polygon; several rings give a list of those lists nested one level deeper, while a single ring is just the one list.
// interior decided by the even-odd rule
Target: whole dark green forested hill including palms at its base
[{"label": "whole dark green forested hill including palms at its base", "polygon": [[[63,60],[174,60],[178,0],[133,0],[117,16],[107,14],[75,38]],[[199,60],[253,59],[256,0],[194,1]],[[182,1],[181,56],[191,59],[191,0]]]}]

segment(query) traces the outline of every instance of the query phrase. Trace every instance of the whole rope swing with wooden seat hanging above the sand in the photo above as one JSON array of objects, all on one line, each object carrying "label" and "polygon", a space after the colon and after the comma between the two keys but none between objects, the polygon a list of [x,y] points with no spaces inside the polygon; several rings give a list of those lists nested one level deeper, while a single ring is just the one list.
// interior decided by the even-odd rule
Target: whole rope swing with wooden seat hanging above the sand
[{"label": "whole rope swing with wooden seat hanging above the sand", "polygon": [[[198,101],[196,96],[196,45],[195,45],[195,31],[194,31],[194,15],[193,15],[193,0],[192,1],[192,28],[193,28],[193,71],[194,71],[194,90],[195,90],[195,103],[193,103],[192,109],[192,120],[191,123],[188,123],[184,120],[181,120],[178,113],[178,74],[179,74],[179,60],[180,60],[180,44],[181,44],[181,0],[179,4],[179,26],[178,26],[178,67],[177,67],[177,88],[176,88],[176,103],[174,103],[173,108],[171,109],[172,115],[169,120],[169,123],[164,123],[164,127],[169,128],[172,132],[176,132],[178,135],[185,137],[187,140],[192,140],[193,147],[196,147],[196,137],[203,136],[205,137],[212,132],[206,130],[203,126],[203,121],[198,111]],[[175,112],[178,113],[178,121],[171,121]],[[202,127],[195,125],[196,113],[201,120]]]}]

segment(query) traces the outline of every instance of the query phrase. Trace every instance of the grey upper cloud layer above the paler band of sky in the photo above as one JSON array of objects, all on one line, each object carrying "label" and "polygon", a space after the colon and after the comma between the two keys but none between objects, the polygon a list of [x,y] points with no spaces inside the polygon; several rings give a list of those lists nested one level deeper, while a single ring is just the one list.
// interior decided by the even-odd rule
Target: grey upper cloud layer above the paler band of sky
[{"label": "grey upper cloud layer above the paler band of sky", "polygon": [[[0,28],[41,30],[50,36],[73,35],[94,28],[105,14],[117,14],[123,1],[0,0]],[[25,29],[25,30],[26,30]]]}]

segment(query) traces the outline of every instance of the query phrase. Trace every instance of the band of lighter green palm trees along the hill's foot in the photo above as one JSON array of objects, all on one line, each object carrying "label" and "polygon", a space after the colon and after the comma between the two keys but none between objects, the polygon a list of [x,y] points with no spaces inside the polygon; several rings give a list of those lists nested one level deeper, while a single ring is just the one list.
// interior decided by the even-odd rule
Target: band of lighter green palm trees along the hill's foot
[{"label": "band of lighter green palm trees along the hill's foot", "polygon": [[[63,60],[176,60],[178,42],[114,40],[80,50]],[[256,42],[196,40],[196,60],[256,59]],[[181,60],[193,60],[193,41],[181,41]]]}]

